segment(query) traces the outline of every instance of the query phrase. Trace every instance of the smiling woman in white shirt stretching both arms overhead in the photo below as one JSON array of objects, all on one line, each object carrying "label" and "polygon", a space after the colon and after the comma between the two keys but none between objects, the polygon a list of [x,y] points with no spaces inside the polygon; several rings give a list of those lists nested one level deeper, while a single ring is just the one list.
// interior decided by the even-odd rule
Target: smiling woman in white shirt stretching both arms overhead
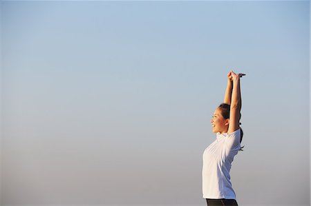
[{"label": "smiling woman in white shirt stretching both arms overhead", "polygon": [[241,150],[243,131],[240,128],[240,78],[245,74],[230,71],[224,103],[219,105],[211,119],[216,140],[203,153],[202,192],[207,205],[238,205],[230,182],[234,156]]}]

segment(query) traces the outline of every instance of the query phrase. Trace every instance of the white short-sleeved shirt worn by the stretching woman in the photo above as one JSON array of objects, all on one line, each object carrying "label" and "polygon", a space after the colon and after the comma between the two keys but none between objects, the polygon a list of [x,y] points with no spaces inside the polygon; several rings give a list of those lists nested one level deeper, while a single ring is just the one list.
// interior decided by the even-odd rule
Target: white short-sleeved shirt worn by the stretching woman
[{"label": "white short-sleeved shirt worn by the stretching woman", "polygon": [[236,199],[229,172],[234,156],[241,148],[240,138],[240,128],[231,134],[218,132],[216,140],[205,149],[202,168],[203,198]]}]

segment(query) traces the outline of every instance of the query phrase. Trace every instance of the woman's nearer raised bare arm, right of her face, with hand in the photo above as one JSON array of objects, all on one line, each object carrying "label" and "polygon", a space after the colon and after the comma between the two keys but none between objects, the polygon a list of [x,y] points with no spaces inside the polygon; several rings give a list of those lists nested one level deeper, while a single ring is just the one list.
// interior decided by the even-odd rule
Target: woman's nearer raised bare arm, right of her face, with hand
[{"label": "woman's nearer raised bare arm, right of her face, with hand", "polygon": [[245,74],[235,74],[231,72],[232,76],[232,96],[230,103],[230,119],[228,133],[232,133],[240,127],[240,112],[241,112],[241,88],[240,78]]}]

